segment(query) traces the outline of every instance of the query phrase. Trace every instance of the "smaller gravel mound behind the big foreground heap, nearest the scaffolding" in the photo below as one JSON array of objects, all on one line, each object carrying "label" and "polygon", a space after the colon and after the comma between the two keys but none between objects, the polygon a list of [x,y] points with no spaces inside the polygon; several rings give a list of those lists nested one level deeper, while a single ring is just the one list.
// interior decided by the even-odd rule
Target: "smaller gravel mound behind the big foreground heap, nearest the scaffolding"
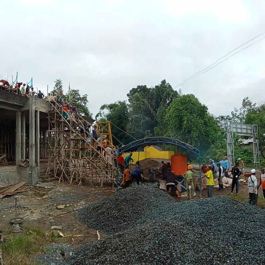
[{"label": "smaller gravel mound behind the big foreground heap, nearest the scaffolding", "polygon": [[135,186],[78,209],[77,216],[89,228],[112,233],[140,224],[152,210],[174,202],[172,197],[158,189]]}]

